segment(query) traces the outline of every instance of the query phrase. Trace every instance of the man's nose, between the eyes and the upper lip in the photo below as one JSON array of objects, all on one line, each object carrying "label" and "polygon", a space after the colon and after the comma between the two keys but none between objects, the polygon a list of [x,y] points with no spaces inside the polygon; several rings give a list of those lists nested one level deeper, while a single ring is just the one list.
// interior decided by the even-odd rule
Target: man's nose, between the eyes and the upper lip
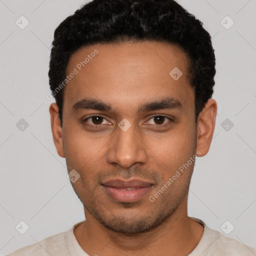
[{"label": "man's nose, between the eyes and the upper lip", "polygon": [[128,168],[134,163],[145,163],[147,160],[146,146],[142,136],[135,130],[134,126],[124,131],[116,127],[107,152],[107,161],[110,164],[118,164]]}]

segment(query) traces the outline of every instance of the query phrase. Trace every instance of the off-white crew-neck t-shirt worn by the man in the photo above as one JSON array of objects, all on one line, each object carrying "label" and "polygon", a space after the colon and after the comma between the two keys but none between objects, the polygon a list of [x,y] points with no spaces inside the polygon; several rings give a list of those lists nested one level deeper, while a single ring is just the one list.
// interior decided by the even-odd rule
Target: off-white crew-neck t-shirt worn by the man
[{"label": "off-white crew-neck t-shirt worn by the man", "polygon": [[[220,232],[213,230],[197,218],[193,220],[204,226],[201,240],[188,256],[255,256],[256,249],[246,246],[243,243],[228,238]],[[77,242],[73,229],[81,224],[80,221],[73,225],[66,232],[49,236],[39,243],[18,249],[6,256],[89,256]],[[93,256],[93,255],[91,255]]]}]

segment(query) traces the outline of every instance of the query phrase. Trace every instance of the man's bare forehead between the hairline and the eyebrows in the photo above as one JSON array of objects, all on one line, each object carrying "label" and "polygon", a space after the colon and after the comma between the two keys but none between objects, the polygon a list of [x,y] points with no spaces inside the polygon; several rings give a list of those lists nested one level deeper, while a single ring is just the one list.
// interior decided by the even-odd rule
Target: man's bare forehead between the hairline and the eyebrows
[{"label": "man's bare forehead between the hairline and the eyebrows", "polygon": [[165,42],[123,42],[84,46],[69,59],[64,105],[93,97],[112,105],[130,106],[169,96],[193,104],[187,57]]}]

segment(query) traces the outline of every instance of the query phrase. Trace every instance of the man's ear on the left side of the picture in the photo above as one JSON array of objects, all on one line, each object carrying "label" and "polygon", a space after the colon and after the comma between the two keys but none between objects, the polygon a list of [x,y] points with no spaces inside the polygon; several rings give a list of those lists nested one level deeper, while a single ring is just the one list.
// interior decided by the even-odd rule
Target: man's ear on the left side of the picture
[{"label": "man's ear on the left side of the picture", "polygon": [[50,124],[51,124],[51,132],[55,147],[57,149],[57,153],[61,157],[65,157],[63,150],[63,140],[61,133],[61,124],[58,113],[58,106],[56,103],[51,103],[49,107],[50,112]]}]

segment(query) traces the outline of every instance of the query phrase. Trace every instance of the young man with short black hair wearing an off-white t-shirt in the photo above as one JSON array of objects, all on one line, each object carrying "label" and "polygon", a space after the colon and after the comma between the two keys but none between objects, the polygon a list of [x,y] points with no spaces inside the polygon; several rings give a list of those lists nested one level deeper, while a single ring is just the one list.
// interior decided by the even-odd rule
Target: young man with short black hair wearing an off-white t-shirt
[{"label": "young man with short black hair wearing an off-white t-shirt", "polygon": [[187,216],[214,74],[210,35],[173,0],[93,0],[61,22],[51,129],[86,220],[9,255],[256,255]]}]

